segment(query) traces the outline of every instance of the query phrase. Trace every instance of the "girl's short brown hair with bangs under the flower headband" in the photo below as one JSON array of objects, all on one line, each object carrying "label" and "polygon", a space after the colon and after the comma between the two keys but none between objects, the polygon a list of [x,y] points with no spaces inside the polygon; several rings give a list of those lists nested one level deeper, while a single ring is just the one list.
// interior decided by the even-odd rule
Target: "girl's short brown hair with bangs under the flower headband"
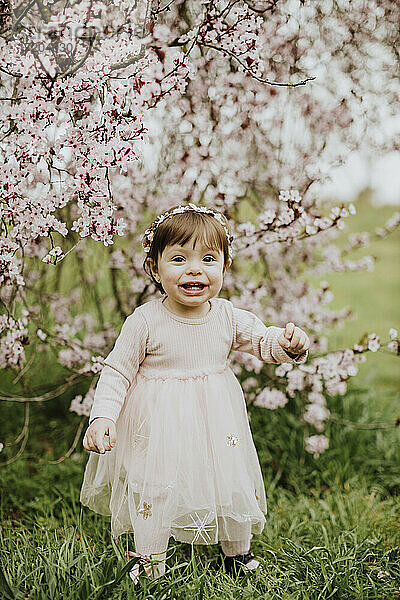
[{"label": "girl's short brown hair with bangs under the flower headband", "polygon": [[[168,213],[175,208],[177,206],[173,206],[166,212]],[[226,218],[222,214],[221,216],[228,227]],[[151,277],[154,285],[162,294],[165,291],[161,283],[154,279],[149,259],[157,264],[166,246],[173,246],[174,244],[184,246],[192,238],[194,238],[194,247],[200,240],[210,250],[221,250],[224,255],[224,269],[226,269],[229,260],[229,243],[225,229],[221,223],[210,214],[194,210],[177,213],[162,221],[156,228],[150,250],[147,252],[147,256],[143,262],[143,269]]]}]

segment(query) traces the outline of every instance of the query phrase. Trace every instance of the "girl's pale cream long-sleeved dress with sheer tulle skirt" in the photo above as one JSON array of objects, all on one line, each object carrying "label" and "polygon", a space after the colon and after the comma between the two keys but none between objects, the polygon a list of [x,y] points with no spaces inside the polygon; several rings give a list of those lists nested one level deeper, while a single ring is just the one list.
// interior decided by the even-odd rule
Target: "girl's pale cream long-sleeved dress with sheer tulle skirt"
[{"label": "girl's pale cream long-sleeved dress with sheer tulle skirt", "polygon": [[190,319],[164,298],[126,319],[105,359],[90,422],[116,423],[116,446],[91,452],[82,504],[111,515],[114,537],[162,528],[194,544],[260,533],[267,504],[242,388],[230,350],[265,362],[302,363],[277,342],[283,331],[223,298]]}]

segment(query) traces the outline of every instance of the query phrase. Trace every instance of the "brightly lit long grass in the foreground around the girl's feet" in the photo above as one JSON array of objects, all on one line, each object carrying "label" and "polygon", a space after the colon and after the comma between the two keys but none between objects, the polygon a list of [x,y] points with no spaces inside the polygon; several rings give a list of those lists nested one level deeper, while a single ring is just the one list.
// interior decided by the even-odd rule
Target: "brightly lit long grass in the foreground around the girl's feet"
[{"label": "brightly lit long grass in the foreground around the girl's feet", "polygon": [[166,575],[153,583],[143,578],[135,590],[125,559],[132,536],[113,542],[108,519],[79,507],[81,467],[78,460],[47,472],[48,492],[32,500],[29,517],[2,515],[2,598],[144,600],[169,587],[185,600],[400,597],[400,506],[362,479],[296,498],[277,488],[265,532],[252,541],[264,576],[232,577],[218,566],[217,546],[171,540]]}]

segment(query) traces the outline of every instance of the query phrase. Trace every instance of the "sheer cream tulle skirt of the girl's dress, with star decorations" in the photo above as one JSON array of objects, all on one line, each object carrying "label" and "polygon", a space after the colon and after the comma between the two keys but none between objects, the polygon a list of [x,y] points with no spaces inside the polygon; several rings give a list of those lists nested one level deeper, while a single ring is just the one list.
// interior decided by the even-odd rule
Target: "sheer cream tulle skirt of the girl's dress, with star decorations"
[{"label": "sheer cream tulle skirt of the girl's dress, with star decorations", "polygon": [[243,392],[229,367],[186,378],[139,371],[116,430],[111,451],[90,453],[80,494],[82,504],[111,515],[115,538],[152,519],[194,544],[261,533],[264,483]]}]

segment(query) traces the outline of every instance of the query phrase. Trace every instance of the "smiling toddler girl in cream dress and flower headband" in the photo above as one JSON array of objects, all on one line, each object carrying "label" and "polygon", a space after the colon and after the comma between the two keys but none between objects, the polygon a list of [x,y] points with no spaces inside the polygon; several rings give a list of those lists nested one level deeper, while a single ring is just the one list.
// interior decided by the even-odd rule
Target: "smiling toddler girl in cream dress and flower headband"
[{"label": "smiling toddler girl in cream dress and flower headband", "polygon": [[250,539],[265,524],[264,483],[228,355],[298,364],[310,342],[293,323],[266,327],[218,297],[232,239],[213,209],[157,217],[143,237],[144,269],[163,296],[128,316],[96,387],[80,501],[111,515],[114,537],[134,532],[135,582],[140,564],[164,573],[171,536],[220,541],[227,565],[260,564]]}]

